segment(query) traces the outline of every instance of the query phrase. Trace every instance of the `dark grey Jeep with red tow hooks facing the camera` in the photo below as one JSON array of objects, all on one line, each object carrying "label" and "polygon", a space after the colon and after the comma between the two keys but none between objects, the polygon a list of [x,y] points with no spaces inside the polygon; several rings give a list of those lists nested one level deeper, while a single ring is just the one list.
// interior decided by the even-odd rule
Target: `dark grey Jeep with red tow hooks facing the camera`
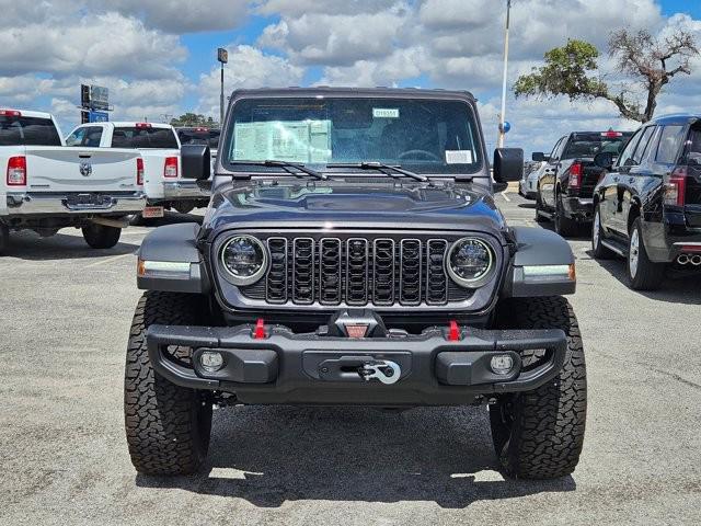
[{"label": "dark grey Jeep with red tow hooks facing the camera", "polygon": [[[183,172],[209,174],[206,146]],[[234,92],[200,226],[138,258],[131,461],[196,470],[212,404],[487,404],[507,473],[574,470],[586,415],[574,258],[509,227],[468,92]],[[494,156],[499,187],[522,150]]]}]

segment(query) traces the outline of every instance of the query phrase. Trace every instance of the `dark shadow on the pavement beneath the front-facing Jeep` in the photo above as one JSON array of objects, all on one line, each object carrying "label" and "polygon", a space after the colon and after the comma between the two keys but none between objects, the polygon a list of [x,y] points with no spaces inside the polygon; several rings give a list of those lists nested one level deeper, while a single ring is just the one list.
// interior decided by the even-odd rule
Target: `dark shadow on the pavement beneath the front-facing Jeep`
[{"label": "dark shadow on the pavement beneath the front-facing Jeep", "polygon": [[261,507],[286,501],[430,501],[461,508],[576,488],[574,479],[505,480],[485,408],[241,407],[215,412],[205,472],[137,476],[146,488],[240,498]]}]

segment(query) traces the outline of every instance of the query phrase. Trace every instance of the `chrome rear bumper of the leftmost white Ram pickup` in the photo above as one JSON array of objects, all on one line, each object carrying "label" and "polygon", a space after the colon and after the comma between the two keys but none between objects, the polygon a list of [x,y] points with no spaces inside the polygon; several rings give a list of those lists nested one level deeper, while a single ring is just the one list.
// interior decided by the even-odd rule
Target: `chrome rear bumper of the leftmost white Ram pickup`
[{"label": "chrome rear bumper of the leftmost white Ram pickup", "polygon": [[[81,203],[82,202],[82,203]],[[142,192],[8,193],[10,216],[92,216],[138,214],[146,206]]]}]

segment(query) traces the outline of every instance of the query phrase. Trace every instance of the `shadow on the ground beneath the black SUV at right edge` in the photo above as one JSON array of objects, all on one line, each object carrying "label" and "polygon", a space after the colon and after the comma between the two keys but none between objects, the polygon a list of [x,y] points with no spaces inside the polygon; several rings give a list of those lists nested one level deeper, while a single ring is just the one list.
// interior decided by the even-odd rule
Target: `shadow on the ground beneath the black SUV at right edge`
[{"label": "shadow on the ground beneath the black SUV at right edge", "polygon": [[[587,254],[594,260],[591,251]],[[595,260],[601,268],[621,282],[627,287],[628,275],[625,272],[625,260],[617,258],[612,260]],[[667,270],[667,276],[658,290],[633,290],[650,299],[668,301],[671,304],[701,305],[701,272],[697,275]]]}]

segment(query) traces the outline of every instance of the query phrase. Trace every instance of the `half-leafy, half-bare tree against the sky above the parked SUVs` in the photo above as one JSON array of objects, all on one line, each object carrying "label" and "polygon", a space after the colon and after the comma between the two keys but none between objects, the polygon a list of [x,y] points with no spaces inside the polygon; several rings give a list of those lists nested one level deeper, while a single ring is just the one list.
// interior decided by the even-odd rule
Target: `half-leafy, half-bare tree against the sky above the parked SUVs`
[{"label": "half-leafy, half-bare tree against the sky above the parked SUVs", "polygon": [[571,101],[605,99],[618,107],[621,116],[646,123],[655,114],[662,90],[679,73],[691,75],[690,60],[699,55],[692,34],[677,28],[656,38],[646,30],[631,33],[619,30],[609,39],[609,57],[616,69],[634,79],[645,92],[644,106],[636,94],[621,85],[609,85],[599,73],[599,50],[588,42],[568,39],[544,56],[544,66],[518,78],[514,92],[519,96],[565,95]]}]

